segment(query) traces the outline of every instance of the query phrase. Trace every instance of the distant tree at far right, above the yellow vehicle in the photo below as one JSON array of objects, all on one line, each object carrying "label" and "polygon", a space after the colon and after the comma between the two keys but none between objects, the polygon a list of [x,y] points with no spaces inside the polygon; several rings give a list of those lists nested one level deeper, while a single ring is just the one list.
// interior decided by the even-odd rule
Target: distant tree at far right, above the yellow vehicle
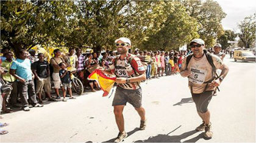
[{"label": "distant tree at far right, above the yellow vehicle", "polygon": [[254,13],[254,15],[244,18],[238,25],[241,31],[238,36],[246,48],[250,48],[255,42],[255,16]]}]

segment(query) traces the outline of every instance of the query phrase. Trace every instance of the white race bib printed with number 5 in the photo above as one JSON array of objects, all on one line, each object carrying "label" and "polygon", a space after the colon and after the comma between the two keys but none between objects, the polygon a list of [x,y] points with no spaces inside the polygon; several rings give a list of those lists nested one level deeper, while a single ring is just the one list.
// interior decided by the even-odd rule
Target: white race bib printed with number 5
[{"label": "white race bib printed with number 5", "polygon": [[206,70],[196,69],[191,67],[191,76],[188,76],[188,81],[195,84],[203,84],[205,81],[205,76],[207,75]]}]

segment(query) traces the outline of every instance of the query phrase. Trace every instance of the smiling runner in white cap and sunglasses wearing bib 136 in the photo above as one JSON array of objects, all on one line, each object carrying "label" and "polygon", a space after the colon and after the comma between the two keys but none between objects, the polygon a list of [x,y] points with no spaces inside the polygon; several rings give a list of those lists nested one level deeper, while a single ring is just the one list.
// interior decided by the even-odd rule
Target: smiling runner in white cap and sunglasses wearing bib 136
[{"label": "smiling runner in white cap and sunglasses wearing bib 136", "polygon": [[110,71],[104,70],[102,67],[99,67],[99,70],[108,75],[115,74],[117,77],[116,83],[118,85],[112,105],[119,129],[115,142],[121,142],[127,137],[127,133],[124,131],[123,116],[124,106],[127,102],[132,104],[140,115],[140,130],[145,130],[146,128],[145,110],[141,106],[142,96],[140,87],[140,82],[146,79],[146,74],[140,58],[128,53],[128,49],[131,47],[130,39],[116,39],[115,45],[120,55],[113,60],[113,64],[110,65]]}]

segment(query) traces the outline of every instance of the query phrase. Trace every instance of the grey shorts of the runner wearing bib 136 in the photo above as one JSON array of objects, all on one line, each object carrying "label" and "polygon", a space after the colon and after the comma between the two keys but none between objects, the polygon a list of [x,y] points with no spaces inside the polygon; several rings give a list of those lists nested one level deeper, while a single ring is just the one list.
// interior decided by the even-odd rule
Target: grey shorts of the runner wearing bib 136
[{"label": "grey shorts of the runner wearing bib 136", "polygon": [[126,105],[127,102],[132,104],[135,108],[141,107],[141,88],[136,90],[128,90],[122,87],[116,87],[115,97],[112,106]]}]

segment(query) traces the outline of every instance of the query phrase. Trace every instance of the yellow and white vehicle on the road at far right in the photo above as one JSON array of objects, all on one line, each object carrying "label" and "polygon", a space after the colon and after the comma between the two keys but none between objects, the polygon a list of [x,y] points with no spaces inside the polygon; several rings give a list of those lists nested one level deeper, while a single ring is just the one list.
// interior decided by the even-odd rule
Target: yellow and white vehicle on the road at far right
[{"label": "yellow and white vehicle on the road at far right", "polygon": [[255,62],[255,55],[249,50],[235,50],[233,55],[234,61],[253,61]]}]

